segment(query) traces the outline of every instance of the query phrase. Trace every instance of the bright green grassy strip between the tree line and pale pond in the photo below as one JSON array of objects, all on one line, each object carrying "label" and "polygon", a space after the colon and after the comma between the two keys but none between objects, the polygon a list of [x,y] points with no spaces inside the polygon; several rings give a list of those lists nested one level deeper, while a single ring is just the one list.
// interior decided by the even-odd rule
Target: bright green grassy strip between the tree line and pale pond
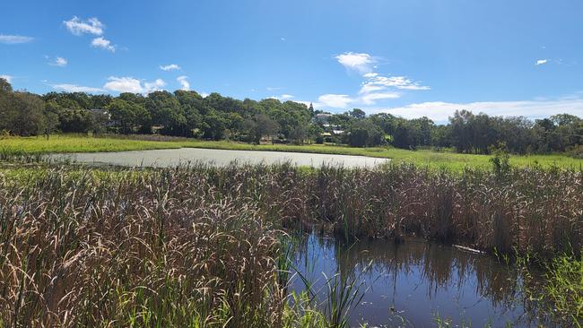
[{"label": "bright green grassy strip between the tree line and pale pond", "polygon": [[[490,156],[458,154],[451,151],[407,151],[396,148],[353,148],[338,145],[251,145],[241,142],[206,142],[186,138],[168,138],[165,141],[140,140],[123,137],[93,138],[82,135],[56,135],[48,140],[41,137],[0,139],[1,154],[39,154],[50,152],[98,152],[98,151],[144,151],[154,149],[176,149],[183,147],[240,151],[292,151],[326,154],[360,155],[413,161],[432,168],[460,169],[464,167],[485,168],[490,166]],[[583,160],[563,155],[512,156],[510,164],[516,166],[541,165],[545,168],[582,168]]]}]

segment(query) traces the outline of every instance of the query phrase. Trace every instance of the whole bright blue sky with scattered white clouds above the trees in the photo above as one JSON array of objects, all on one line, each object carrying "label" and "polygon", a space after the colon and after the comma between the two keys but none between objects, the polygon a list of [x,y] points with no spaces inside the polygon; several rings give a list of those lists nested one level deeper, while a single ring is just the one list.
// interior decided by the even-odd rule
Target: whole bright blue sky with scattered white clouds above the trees
[{"label": "whole bright blue sky with scattered white clouds above the trees", "polygon": [[580,0],[4,1],[0,75],[39,93],[189,88],[438,122],[583,117],[581,17]]}]

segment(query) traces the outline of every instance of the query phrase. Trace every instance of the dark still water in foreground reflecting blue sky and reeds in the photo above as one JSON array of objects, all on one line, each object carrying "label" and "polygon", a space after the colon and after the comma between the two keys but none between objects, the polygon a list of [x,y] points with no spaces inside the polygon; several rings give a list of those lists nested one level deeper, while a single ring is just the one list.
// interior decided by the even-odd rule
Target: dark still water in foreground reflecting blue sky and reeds
[{"label": "dark still water in foreground reflecting blue sky and reeds", "polygon": [[[356,280],[364,297],[352,311],[351,326],[431,327],[438,317],[448,319],[451,326],[553,325],[523,297],[524,281],[518,271],[492,255],[420,238],[407,238],[398,246],[387,240],[348,245],[310,235],[297,246],[293,263],[321,304],[327,294],[326,277],[337,273]],[[298,273],[292,277],[292,289],[305,289]]]}]

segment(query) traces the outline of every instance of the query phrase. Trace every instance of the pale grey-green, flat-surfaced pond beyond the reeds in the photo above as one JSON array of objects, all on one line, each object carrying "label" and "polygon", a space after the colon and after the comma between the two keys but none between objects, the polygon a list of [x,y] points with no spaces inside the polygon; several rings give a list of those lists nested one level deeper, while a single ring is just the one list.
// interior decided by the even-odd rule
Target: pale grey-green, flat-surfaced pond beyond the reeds
[{"label": "pale grey-green, flat-surfaced pond beyond the reeds", "polygon": [[78,163],[96,165],[120,165],[127,167],[175,167],[178,164],[206,162],[216,166],[226,166],[236,161],[246,164],[275,164],[290,162],[299,166],[319,167],[344,165],[345,167],[371,167],[384,163],[387,159],[365,156],[328,155],[306,152],[283,151],[225,151],[199,148],[181,148],[157,151],[120,151],[52,154],[51,160],[72,160]]}]

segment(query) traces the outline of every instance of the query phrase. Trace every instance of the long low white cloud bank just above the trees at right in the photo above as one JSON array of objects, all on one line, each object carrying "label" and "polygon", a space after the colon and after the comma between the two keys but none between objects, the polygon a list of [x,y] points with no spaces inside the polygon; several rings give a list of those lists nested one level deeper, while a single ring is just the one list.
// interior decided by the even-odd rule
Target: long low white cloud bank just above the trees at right
[{"label": "long low white cloud bank just above the trees at right", "polygon": [[456,110],[467,109],[477,114],[492,116],[542,118],[569,113],[583,117],[583,98],[518,101],[481,101],[450,103],[443,101],[422,102],[400,108],[368,108],[370,112],[386,112],[396,116],[415,118],[429,117],[436,122],[445,122]]}]

